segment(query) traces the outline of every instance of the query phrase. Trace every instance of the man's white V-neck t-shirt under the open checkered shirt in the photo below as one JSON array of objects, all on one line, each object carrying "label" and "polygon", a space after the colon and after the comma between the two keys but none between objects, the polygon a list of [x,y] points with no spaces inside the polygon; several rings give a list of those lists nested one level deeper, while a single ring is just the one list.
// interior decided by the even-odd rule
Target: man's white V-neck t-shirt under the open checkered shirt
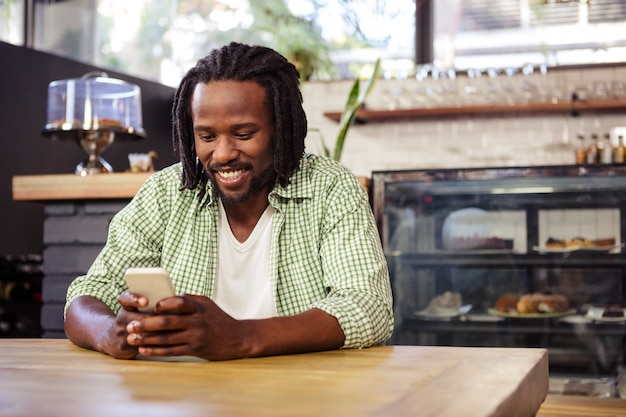
[{"label": "man's white V-neck t-shirt under the open checkered shirt", "polygon": [[238,320],[277,316],[270,279],[274,208],[267,206],[252,234],[242,243],[233,235],[221,202],[219,206],[219,260],[213,300]]}]

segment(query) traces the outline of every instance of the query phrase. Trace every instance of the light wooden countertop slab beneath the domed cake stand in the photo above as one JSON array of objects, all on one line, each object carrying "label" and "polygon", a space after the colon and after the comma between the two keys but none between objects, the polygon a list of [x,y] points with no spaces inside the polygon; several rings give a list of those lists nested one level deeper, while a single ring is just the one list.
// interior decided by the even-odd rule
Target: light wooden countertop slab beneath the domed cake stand
[{"label": "light wooden countertop slab beneath the domed cake stand", "polygon": [[132,198],[150,172],[22,175],[13,177],[13,199],[54,201]]}]

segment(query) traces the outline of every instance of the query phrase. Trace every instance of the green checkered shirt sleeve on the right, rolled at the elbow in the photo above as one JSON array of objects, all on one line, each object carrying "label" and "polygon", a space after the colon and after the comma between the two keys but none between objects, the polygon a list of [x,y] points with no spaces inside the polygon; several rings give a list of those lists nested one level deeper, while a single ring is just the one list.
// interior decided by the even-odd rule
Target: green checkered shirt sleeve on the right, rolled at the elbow
[{"label": "green checkered shirt sleeve on the right, rolled at the elbow", "polygon": [[393,331],[389,270],[363,186],[345,176],[324,202],[320,255],[328,296],[316,303],[339,321],[344,348],[383,344]]}]

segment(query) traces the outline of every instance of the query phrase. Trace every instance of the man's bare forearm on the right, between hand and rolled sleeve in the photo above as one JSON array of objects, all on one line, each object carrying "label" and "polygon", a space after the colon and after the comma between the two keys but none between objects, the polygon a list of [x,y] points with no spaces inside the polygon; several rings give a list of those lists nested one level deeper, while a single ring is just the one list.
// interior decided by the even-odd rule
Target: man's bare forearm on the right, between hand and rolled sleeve
[{"label": "man's bare forearm on the right, between hand and rolled sleeve", "polygon": [[244,320],[243,350],[247,357],[338,349],[345,335],[337,319],[320,309],[289,317]]}]

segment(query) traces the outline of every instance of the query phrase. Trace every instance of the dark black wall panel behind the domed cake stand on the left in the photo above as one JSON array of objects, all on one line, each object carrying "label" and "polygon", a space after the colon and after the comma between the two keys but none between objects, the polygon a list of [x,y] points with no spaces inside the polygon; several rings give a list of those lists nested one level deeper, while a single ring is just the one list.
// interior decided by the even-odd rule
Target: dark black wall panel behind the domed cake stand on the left
[{"label": "dark black wall panel behind the domed cake stand on the left", "polygon": [[0,42],[0,254],[43,253],[43,204],[13,201],[11,180],[15,175],[73,173],[85,158],[76,143],[46,139],[41,130],[48,83],[90,71],[105,71],[141,88],[146,139],[111,145],[103,157],[113,169],[128,169],[131,152],[156,151],[156,169],[176,160],[170,140],[173,88]]}]

